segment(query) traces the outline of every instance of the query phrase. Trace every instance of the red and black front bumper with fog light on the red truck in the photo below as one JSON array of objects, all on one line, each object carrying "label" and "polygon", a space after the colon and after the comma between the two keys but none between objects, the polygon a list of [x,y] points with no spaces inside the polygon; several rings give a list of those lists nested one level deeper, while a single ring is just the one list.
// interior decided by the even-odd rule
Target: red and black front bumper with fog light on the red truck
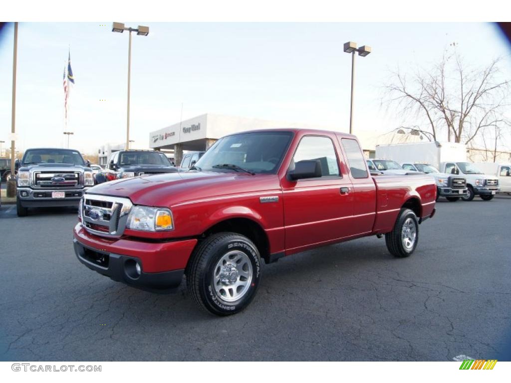
[{"label": "red and black front bumper with fog light on the red truck", "polygon": [[[75,254],[91,270],[145,290],[169,290],[182,280],[196,239],[143,242],[135,238],[104,238],[89,234],[78,223],[74,229]],[[141,273],[135,272],[135,264]]]}]

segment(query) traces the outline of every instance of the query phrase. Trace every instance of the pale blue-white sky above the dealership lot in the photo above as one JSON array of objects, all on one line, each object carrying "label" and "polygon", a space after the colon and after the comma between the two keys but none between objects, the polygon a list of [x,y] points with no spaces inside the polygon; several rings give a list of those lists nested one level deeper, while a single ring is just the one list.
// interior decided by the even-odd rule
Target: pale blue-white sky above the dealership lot
[{"label": "pale blue-white sky above the dealership lot", "polygon": [[[487,23],[140,24],[150,33],[132,36],[130,138],[138,148],[148,147],[150,131],[179,122],[181,103],[183,119],[218,113],[347,131],[351,58],[342,44],[349,40],[373,49],[356,57],[354,133],[364,136],[403,123],[380,109],[389,68],[428,67],[456,42],[467,63],[483,66],[505,56],[511,74],[509,46]],[[11,24],[0,36],[4,141],[11,129],[12,40]],[[20,150],[62,144],[68,46],[76,79],[69,101],[71,147],[97,153],[103,143],[125,141],[128,34],[112,33],[110,21],[31,22],[18,29]],[[511,149],[511,140],[503,145]]]}]

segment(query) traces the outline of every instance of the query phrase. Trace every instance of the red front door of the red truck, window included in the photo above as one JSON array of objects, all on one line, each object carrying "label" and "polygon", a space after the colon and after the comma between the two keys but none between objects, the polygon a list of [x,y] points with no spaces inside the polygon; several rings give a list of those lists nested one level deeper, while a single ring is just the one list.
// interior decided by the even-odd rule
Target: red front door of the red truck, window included
[{"label": "red front door of the red truck, window included", "polygon": [[[341,173],[338,142],[327,135],[299,139],[288,169],[301,160],[318,159],[321,177],[281,179],[286,250],[289,253],[348,235],[353,217],[353,185]],[[342,157],[341,157],[342,158]]]}]

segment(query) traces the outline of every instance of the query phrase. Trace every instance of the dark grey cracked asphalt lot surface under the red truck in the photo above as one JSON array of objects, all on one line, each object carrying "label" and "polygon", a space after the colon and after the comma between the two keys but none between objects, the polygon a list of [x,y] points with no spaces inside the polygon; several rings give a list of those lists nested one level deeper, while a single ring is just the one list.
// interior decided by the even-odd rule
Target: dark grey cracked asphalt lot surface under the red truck
[{"label": "dark grey cracked asphalt lot surface under the red truck", "polygon": [[0,360],[494,358],[511,333],[509,212],[509,197],[441,199],[411,257],[368,237],[282,258],[264,265],[247,309],[218,318],[184,283],[153,294],[85,268],[73,252],[76,210],[17,218],[2,206]]}]

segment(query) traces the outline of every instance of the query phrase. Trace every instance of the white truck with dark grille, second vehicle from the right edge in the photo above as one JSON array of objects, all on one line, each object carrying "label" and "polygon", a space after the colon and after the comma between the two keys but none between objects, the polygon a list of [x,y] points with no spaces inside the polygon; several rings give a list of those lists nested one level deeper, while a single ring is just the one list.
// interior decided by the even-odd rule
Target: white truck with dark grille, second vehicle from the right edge
[{"label": "white truck with dark grille, second vehicle from the right edge", "polygon": [[499,180],[496,176],[484,174],[470,162],[442,162],[440,172],[455,174],[467,179],[467,197],[463,201],[472,201],[479,196],[483,201],[490,201],[499,193]]}]

